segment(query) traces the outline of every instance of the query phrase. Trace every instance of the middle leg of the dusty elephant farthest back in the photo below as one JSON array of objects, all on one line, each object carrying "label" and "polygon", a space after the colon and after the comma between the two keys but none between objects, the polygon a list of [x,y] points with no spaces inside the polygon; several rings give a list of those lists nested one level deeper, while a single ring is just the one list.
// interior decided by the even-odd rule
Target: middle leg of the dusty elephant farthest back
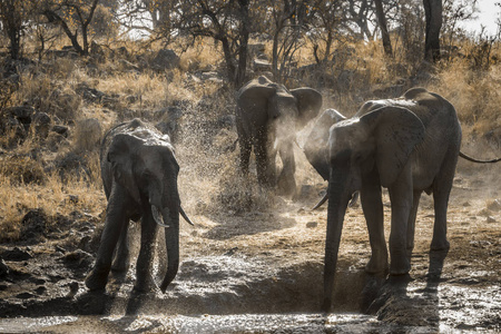
[{"label": "middle leg of the dusty elephant farthest back", "polygon": [[265,136],[261,136],[254,145],[256,154],[257,181],[266,188],[274,188],[276,185],[276,150],[273,149]]}]

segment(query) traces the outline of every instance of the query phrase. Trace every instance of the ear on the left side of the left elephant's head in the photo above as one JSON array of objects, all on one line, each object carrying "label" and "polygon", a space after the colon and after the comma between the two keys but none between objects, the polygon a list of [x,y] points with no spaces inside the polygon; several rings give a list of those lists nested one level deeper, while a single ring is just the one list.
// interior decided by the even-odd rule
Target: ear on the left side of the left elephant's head
[{"label": "ear on the left side of the left elephant's head", "polygon": [[134,200],[140,200],[139,188],[132,170],[135,159],[135,147],[141,144],[141,140],[129,135],[116,135],[108,149],[107,159],[111,165],[114,179],[124,186]]}]

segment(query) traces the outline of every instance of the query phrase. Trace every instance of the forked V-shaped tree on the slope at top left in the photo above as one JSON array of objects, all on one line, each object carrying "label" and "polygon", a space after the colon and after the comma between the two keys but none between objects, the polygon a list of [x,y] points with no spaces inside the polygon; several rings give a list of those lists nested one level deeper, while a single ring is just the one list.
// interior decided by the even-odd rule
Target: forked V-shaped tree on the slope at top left
[{"label": "forked V-shaped tree on the slope at top left", "polygon": [[[75,50],[81,55],[89,53],[89,24],[99,0],[46,0],[41,13],[50,23],[62,28]],[[78,40],[81,33],[82,45]]]}]

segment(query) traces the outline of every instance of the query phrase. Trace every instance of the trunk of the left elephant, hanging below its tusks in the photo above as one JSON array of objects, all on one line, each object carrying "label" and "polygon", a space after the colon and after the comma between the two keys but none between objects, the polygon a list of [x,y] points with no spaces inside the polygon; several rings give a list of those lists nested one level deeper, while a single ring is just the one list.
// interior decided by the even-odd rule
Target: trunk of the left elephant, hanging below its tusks
[{"label": "trunk of the left elephant, hanging below its tusks", "polygon": [[[178,196],[176,196],[178,198]],[[173,200],[174,203],[164,209],[164,220],[168,227],[165,228],[165,245],[167,249],[167,272],[165,273],[164,281],[161,282],[160,289],[165,293],[167,286],[176,277],[179,268],[179,200]]]}]

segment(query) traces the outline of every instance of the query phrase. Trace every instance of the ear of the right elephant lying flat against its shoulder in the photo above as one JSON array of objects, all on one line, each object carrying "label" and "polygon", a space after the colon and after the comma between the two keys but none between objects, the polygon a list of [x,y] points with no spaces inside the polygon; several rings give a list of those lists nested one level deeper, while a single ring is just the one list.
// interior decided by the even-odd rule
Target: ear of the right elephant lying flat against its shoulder
[{"label": "ear of the right elephant lying flat against its shoulder", "polygon": [[372,130],[381,185],[387,187],[396,180],[416,145],[424,140],[425,128],[414,112],[401,107],[376,109],[360,121]]}]

